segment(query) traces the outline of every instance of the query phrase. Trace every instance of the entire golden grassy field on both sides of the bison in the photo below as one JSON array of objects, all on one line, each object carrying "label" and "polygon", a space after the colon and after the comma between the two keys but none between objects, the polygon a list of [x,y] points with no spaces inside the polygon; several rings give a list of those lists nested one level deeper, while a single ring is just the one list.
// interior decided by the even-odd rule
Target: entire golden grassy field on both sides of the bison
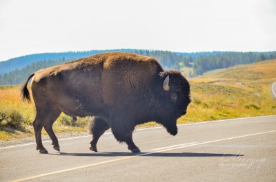
[{"label": "entire golden grassy field on both sides of the bison", "polygon": [[[276,81],[276,60],[229,69],[219,69],[189,79],[192,102],[180,123],[222,120],[235,117],[276,115],[276,102],[270,84]],[[0,139],[21,139],[33,136],[34,104],[21,102],[20,86],[0,87]],[[56,133],[87,131],[88,118],[71,118],[61,114],[54,124]],[[10,124],[10,125],[9,125]],[[144,126],[155,125],[154,122]],[[8,126],[8,127],[7,127]],[[17,130],[10,129],[17,128]],[[43,134],[46,132],[43,130]]]}]

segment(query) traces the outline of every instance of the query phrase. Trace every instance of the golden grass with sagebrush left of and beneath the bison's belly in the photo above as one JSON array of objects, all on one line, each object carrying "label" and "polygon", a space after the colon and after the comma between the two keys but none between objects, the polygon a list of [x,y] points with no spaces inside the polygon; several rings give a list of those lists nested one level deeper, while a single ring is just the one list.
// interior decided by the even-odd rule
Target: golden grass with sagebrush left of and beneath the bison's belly
[{"label": "golden grass with sagebrush left of and beneath the bison's belly", "polygon": [[[10,140],[33,136],[32,121],[34,117],[33,102],[32,104],[21,102],[21,86],[0,87],[0,139]],[[87,131],[87,117],[78,118],[74,126],[72,126],[71,120],[71,117],[62,113],[53,126],[55,132],[83,133]],[[42,133],[46,134],[46,131],[43,130]]]}]

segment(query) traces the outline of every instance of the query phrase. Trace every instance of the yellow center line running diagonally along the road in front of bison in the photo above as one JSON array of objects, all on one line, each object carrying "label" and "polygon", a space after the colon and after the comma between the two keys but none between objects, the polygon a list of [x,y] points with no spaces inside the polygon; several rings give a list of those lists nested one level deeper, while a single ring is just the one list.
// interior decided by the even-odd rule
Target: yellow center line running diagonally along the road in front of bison
[{"label": "yellow center line running diagonally along the road in front of bison", "polygon": [[61,172],[79,170],[79,169],[82,169],[82,168],[89,168],[89,167],[92,167],[92,166],[99,166],[99,165],[105,164],[105,163],[112,163],[112,162],[116,162],[116,161],[124,161],[126,159],[132,159],[132,158],[139,157],[139,156],[151,155],[151,154],[154,154],[154,153],[157,153],[157,152],[166,152],[168,150],[175,150],[175,149],[186,148],[186,147],[190,147],[190,146],[199,146],[199,145],[210,144],[210,143],[214,143],[214,142],[218,142],[218,141],[226,141],[226,140],[230,140],[230,139],[250,137],[250,136],[254,136],[254,135],[263,135],[263,134],[273,133],[273,132],[276,132],[276,130],[271,130],[271,131],[262,132],[262,133],[254,133],[254,134],[250,134],[250,135],[242,135],[242,136],[238,136],[238,137],[229,137],[229,138],[226,138],[226,139],[217,139],[217,140],[213,140],[213,141],[206,141],[206,142],[202,142],[202,143],[198,143],[198,144],[190,144],[190,145],[185,145],[185,146],[177,146],[177,147],[171,146],[172,148],[166,148],[164,150],[157,150],[155,152],[147,152],[147,153],[143,153],[143,154],[139,154],[139,155],[132,155],[132,156],[128,156],[128,157],[121,157],[121,158],[118,158],[118,159],[112,159],[112,160],[102,161],[102,162],[98,162],[98,163],[91,163],[91,164],[88,164],[88,165],[85,165],[85,166],[78,166],[78,167],[75,167],[75,168],[68,168],[66,170],[58,170],[58,171],[55,171],[55,172],[48,172],[48,173],[39,174],[39,175],[36,175],[36,176],[33,176],[33,177],[26,177],[26,178],[23,178],[23,179],[16,179],[12,182],[27,181],[27,180],[30,180],[30,179],[37,179],[37,178],[46,177],[46,176],[49,176],[49,175],[52,175],[52,174],[59,174]]}]

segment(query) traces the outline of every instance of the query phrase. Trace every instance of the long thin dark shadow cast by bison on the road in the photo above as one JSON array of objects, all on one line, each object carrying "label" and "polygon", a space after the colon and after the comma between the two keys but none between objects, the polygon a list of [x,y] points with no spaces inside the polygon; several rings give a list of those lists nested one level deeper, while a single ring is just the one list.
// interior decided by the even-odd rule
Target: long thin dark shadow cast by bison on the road
[{"label": "long thin dark shadow cast by bison on the road", "polygon": [[237,154],[216,154],[216,153],[194,153],[194,152],[183,152],[183,153],[163,153],[163,152],[92,152],[92,153],[66,153],[58,152],[57,154],[50,155],[61,155],[61,156],[87,156],[87,157],[117,157],[117,156],[151,156],[151,157],[241,157],[244,155]]}]

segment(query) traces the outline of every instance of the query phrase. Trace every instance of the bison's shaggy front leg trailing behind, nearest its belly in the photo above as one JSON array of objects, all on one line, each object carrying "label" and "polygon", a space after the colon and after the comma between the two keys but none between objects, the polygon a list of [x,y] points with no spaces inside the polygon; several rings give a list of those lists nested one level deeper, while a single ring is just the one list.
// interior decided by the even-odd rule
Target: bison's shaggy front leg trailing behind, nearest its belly
[{"label": "bison's shaggy front leg trailing behind, nearest its belly", "polygon": [[92,141],[90,141],[90,150],[98,152],[97,142],[99,140],[99,137],[101,137],[101,135],[103,135],[103,133],[109,128],[110,125],[108,124],[108,122],[101,119],[101,117],[92,117],[92,119],[89,122],[89,130],[92,134]]}]

